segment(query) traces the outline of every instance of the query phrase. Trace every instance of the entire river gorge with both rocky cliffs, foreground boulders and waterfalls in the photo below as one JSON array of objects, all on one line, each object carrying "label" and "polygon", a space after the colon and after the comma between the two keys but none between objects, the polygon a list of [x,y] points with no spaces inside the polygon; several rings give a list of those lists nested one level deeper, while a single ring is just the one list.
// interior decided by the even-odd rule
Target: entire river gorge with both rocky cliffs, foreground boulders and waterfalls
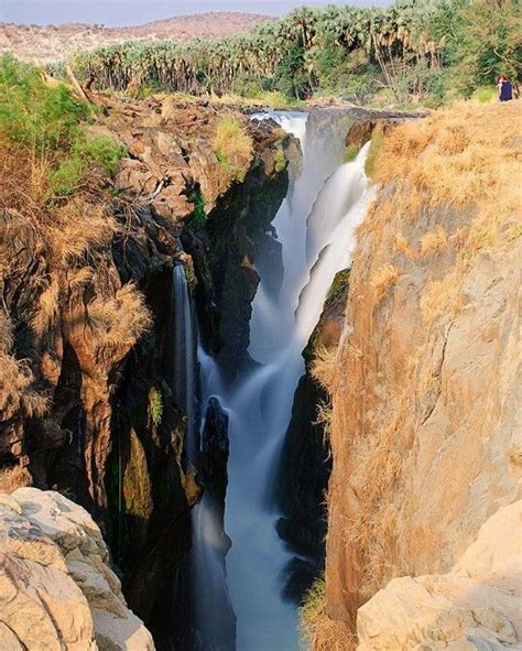
[{"label": "entire river gorge with both rocky cliffs, foreground boulders and waterfalls", "polygon": [[520,227],[447,181],[492,109],[93,97],[115,202],[1,213],[0,649],[22,603],[42,649],[518,648]]}]

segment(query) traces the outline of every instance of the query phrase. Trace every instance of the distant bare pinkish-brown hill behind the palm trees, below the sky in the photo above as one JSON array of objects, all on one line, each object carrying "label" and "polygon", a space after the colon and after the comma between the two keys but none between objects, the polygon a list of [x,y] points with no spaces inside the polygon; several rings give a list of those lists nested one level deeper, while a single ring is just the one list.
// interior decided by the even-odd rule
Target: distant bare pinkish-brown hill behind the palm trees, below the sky
[{"label": "distant bare pinkish-brown hill behind the palm trees, below the sky", "polygon": [[80,50],[91,50],[121,41],[189,41],[195,36],[220,39],[243,34],[268,20],[272,19],[253,13],[211,12],[181,15],[133,28],[105,28],[78,23],[58,26],[0,23],[0,52],[12,52],[21,58],[44,63],[63,59]]}]

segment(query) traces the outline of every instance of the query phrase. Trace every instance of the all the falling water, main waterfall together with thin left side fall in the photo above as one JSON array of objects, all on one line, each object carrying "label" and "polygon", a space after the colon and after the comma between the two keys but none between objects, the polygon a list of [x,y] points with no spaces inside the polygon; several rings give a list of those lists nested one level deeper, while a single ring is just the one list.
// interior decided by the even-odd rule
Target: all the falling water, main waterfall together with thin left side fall
[{"label": "all the falling water, main waterfall together with thin left side fall", "polygon": [[[335,274],[350,264],[355,228],[373,195],[365,175],[367,148],[356,161],[342,162],[346,120],[339,123],[333,119],[311,129],[306,113],[272,112],[258,119],[267,117],[300,140],[303,167],[273,221],[272,237],[282,254],[282,282],[275,282],[273,265],[262,253],[254,261],[260,285],[252,306],[249,352],[259,364],[240,382],[226,387],[213,358],[199,347],[200,423],[196,422],[194,401],[175,384],[176,400],[189,421],[186,448],[194,465],[203,454],[199,433],[204,434],[207,402],[208,417],[214,408],[220,411],[216,397],[227,408],[230,458],[225,529],[232,543],[227,572],[222,506],[208,487],[192,511],[193,549],[185,567],[192,627],[187,648],[205,651],[233,650],[233,612],[238,651],[298,649],[297,610],[283,598],[286,566],[295,554],[275,530],[280,516],[273,499],[276,467],[294,391],[304,372],[302,350],[319,319]],[[185,379],[188,392],[191,386],[195,389],[192,341],[196,338],[187,332],[193,316],[180,269],[174,270],[181,311],[175,326],[181,338],[176,372]]]}]

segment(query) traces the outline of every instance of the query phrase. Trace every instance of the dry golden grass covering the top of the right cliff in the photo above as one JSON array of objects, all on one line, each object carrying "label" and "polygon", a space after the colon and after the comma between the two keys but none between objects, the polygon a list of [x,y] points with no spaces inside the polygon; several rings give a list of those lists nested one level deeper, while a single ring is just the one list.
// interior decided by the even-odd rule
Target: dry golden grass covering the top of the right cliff
[{"label": "dry golden grass covering the top of the right cliff", "polygon": [[[359,231],[360,237],[372,234],[374,250],[381,231],[396,215],[415,220],[423,209],[441,204],[465,206],[471,215],[450,237],[438,225],[421,239],[422,256],[443,251],[449,243],[457,254],[452,278],[432,283],[422,297],[426,325],[447,311],[458,310],[466,268],[480,251],[509,247],[522,234],[522,197],[516,182],[522,177],[521,113],[521,100],[504,105],[459,102],[424,120],[401,124],[382,145],[374,175],[393,192],[376,204]],[[511,221],[511,228],[507,228]],[[394,247],[410,260],[416,258],[401,232],[394,236]],[[372,271],[376,303],[387,295],[396,273],[388,264]]]}]

